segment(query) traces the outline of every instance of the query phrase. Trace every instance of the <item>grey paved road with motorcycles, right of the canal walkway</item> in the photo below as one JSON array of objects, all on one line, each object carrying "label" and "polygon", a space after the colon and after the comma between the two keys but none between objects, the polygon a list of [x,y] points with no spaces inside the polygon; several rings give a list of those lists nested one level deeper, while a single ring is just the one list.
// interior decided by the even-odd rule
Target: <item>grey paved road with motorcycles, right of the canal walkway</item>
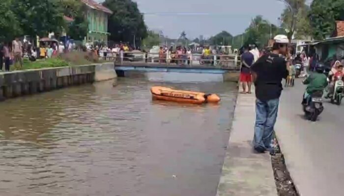
[{"label": "grey paved road with motorcycles, right of the canal walkway", "polygon": [[303,118],[301,98],[305,86],[284,90],[276,134],[287,167],[301,196],[343,196],[344,102],[328,100],[317,122]]}]

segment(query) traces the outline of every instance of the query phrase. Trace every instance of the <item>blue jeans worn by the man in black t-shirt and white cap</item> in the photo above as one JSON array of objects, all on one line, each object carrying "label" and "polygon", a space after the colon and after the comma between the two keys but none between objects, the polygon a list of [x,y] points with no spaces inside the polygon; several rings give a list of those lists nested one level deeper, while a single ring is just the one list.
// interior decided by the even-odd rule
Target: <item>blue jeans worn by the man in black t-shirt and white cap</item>
[{"label": "blue jeans worn by the man in black t-shirt and white cap", "polygon": [[267,148],[271,148],[279,102],[279,98],[267,101],[256,100],[257,117],[253,146],[258,151],[265,151]]}]

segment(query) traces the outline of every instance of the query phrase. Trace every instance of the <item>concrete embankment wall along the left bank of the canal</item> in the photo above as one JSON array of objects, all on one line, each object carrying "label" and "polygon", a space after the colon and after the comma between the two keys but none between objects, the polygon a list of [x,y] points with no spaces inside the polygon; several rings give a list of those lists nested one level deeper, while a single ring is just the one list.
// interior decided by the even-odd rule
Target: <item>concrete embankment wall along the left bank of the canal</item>
[{"label": "concrete embankment wall along the left bank of the canal", "polygon": [[0,73],[0,100],[115,77],[114,63]]}]

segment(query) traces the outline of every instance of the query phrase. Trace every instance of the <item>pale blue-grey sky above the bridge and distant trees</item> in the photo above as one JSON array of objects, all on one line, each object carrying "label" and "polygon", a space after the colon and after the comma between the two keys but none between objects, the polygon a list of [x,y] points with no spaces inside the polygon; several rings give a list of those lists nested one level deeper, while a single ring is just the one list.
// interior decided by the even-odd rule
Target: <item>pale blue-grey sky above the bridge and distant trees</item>
[{"label": "pale blue-grey sky above the bridge and distant trees", "polygon": [[[98,0],[102,1],[102,0]],[[285,4],[278,0],[133,0],[148,28],[170,38],[208,38],[222,30],[241,34],[257,15],[275,25]],[[307,0],[310,3],[311,0]]]}]

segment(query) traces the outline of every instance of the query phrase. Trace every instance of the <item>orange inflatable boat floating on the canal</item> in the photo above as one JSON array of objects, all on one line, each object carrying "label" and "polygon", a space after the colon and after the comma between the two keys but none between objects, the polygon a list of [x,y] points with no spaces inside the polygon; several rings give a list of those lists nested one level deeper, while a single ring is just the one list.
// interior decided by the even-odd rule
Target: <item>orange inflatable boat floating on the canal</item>
[{"label": "orange inflatable boat floating on the canal", "polygon": [[153,86],[150,88],[153,99],[167,100],[175,102],[202,104],[205,102],[217,103],[221,99],[215,94],[205,94],[194,91],[181,91],[163,86]]}]

